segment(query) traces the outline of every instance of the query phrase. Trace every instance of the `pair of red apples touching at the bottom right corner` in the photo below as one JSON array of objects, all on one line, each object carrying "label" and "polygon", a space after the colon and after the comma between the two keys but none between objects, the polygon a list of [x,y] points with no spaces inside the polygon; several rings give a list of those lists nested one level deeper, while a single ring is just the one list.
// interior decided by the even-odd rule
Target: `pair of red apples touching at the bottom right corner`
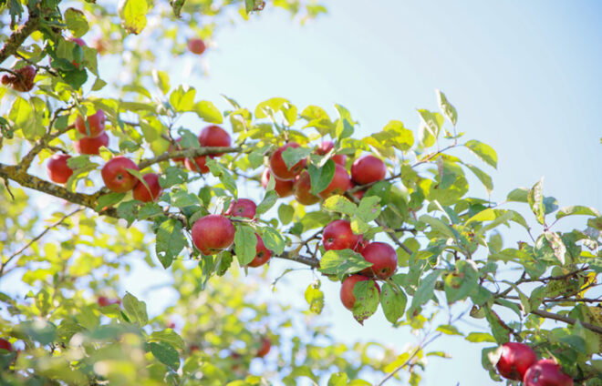
[{"label": "pair of red apples touching at the bottom right corner", "polygon": [[496,368],[503,378],[523,381],[524,386],[573,386],[556,361],[537,361],[535,351],[524,343],[504,343]]}]

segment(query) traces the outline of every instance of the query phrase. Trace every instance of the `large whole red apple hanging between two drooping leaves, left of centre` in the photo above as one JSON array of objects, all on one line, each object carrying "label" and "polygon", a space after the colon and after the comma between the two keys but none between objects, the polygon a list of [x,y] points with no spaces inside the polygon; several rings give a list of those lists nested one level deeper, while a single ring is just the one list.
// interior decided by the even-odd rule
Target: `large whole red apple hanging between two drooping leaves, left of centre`
[{"label": "large whole red apple hanging between two drooping leaves, left of centre", "polygon": [[234,225],[228,218],[209,215],[198,219],[192,226],[192,242],[203,255],[213,255],[230,248],[234,233]]}]

